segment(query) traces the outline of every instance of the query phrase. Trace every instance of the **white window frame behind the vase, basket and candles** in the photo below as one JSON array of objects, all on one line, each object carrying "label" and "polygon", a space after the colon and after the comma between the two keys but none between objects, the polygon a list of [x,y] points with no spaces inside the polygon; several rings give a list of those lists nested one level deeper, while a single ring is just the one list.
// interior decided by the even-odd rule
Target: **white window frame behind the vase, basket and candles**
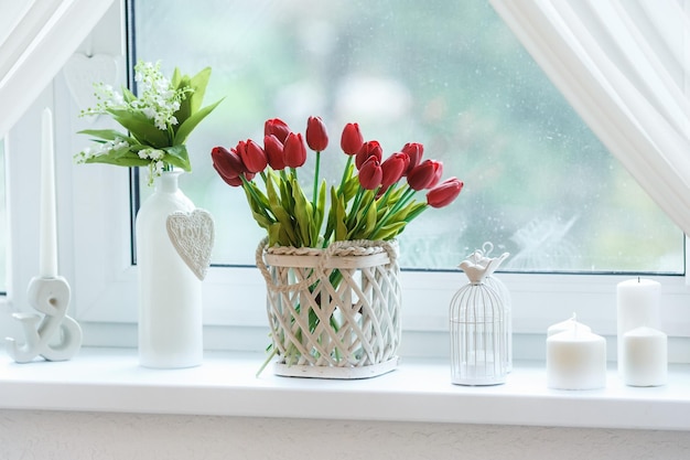
[{"label": "white window frame behind the vase, basket and candles", "polygon": [[[112,8],[93,36],[90,52],[125,53],[123,2]],[[114,34],[119,21],[120,34]],[[86,45],[84,45],[86,46]],[[80,52],[86,52],[82,49]],[[25,289],[37,274],[37,194],[40,152],[35,136],[40,110],[50,106],[56,122],[60,272],[72,286],[71,312],[85,330],[85,345],[136,346],[137,267],[131,263],[130,174],[100,164],[76,165],[84,147],[84,119],[61,73],[10,131],[8,212],[10,270],[8,311],[29,309]],[[107,120],[97,120],[106,124]],[[22,152],[19,154],[18,152]],[[11,180],[22,178],[22,180]],[[35,194],[36,197],[32,197]],[[248,249],[242,249],[248,250]],[[604,335],[616,333],[616,284],[632,275],[499,274],[513,295],[516,359],[543,359],[549,324],[576,312]],[[403,354],[448,354],[448,309],[462,286],[460,271],[403,271]],[[646,276],[647,277],[647,276]],[[690,292],[682,276],[650,276],[662,285],[661,329],[671,338],[690,336]],[[262,350],[268,341],[265,285],[254,267],[212,267],[204,281],[206,349]],[[7,328],[6,328],[7,329]],[[690,362],[690,352],[669,344],[672,362]],[[681,340],[678,343],[684,343]],[[611,346],[610,356],[615,356]]]}]

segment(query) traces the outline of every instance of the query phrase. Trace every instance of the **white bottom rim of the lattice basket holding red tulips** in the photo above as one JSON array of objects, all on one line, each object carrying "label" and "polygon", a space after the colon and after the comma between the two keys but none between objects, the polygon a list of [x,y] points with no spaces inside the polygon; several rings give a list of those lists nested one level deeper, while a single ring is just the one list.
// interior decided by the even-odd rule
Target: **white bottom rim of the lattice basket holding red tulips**
[{"label": "white bottom rim of the lattice basket holding red tulips", "polygon": [[398,356],[393,356],[382,363],[366,366],[314,366],[285,363],[274,363],[273,374],[283,377],[311,377],[333,379],[358,379],[371,378],[395,371],[398,366]]}]

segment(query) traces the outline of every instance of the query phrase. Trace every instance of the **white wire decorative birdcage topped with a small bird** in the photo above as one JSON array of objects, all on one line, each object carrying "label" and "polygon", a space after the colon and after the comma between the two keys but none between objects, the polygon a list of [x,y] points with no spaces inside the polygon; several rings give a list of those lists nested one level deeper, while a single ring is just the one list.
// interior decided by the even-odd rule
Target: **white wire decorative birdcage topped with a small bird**
[{"label": "white wire decorative birdcage topped with a small bird", "polygon": [[485,282],[507,254],[488,258],[475,253],[460,264],[468,282],[453,297],[450,309],[452,383],[497,385],[508,374],[504,299]]}]

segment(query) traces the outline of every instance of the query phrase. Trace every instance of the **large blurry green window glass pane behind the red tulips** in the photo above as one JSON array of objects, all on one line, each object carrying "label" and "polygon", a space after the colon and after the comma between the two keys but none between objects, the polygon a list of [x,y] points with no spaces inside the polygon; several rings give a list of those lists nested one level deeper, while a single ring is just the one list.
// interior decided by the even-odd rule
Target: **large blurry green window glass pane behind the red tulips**
[{"label": "large blurry green window glass pane behind the red tulips", "polygon": [[211,65],[206,101],[226,97],[193,133],[194,173],[182,181],[216,218],[215,263],[252,264],[262,233],[241,190],[216,176],[211,148],[260,141],[267,118],[303,131],[320,115],[334,181],[348,121],[385,154],[422,142],[446,176],[465,181],[454,204],[405,232],[406,267],[454,268],[488,240],[511,253],[508,269],[683,271],[682,233],[485,0],[147,1],[134,18],[138,58],[160,60],[166,73]]}]

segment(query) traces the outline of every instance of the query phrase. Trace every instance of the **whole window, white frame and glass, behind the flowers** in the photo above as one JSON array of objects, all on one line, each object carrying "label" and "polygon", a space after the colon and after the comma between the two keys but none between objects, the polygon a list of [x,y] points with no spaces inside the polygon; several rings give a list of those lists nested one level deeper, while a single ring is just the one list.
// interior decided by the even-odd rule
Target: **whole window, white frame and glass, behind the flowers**
[{"label": "whole window, white frame and glass, behind the flowers", "polygon": [[[495,250],[513,253],[510,259],[528,259],[518,258],[521,247],[511,238],[522,235],[518,232],[520,228],[537,228],[545,235],[556,235],[552,240],[560,245],[548,245],[549,240],[545,239],[546,243],[533,245],[532,254],[550,256],[546,266],[549,271],[576,271],[579,275],[502,275],[514,297],[516,356],[542,359],[539,334],[573,311],[597,333],[615,334],[615,284],[629,278],[629,272],[635,276],[656,274],[665,287],[665,332],[673,336],[688,335],[687,328],[683,329],[683,324],[690,321],[684,280],[680,276],[666,276],[683,272],[680,232],[668,224],[668,220],[603,151],[490,8],[482,1],[456,3],[448,7],[425,2],[422,11],[411,1],[406,2],[405,8],[398,2],[387,8],[376,2],[366,11],[367,14],[376,13],[378,22],[362,19],[359,14],[360,22],[349,26],[343,25],[342,21],[352,20],[351,17],[357,15],[354,8],[364,8],[366,3],[343,2],[338,7],[335,2],[324,6],[302,0],[291,2],[290,9],[284,10],[281,2],[235,2],[226,19],[222,18],[227,6],[219,1],[198,1],[193,10],[187,10],[191,7],[186,3],[176,4],[174,9],[165,8],[164,3],[157,6],[140,1],[130,4],[127,11],[137,32],[131,38],[136,39],[134,43],[129,46],[132,57],[161,60],[166,72],[180,66],[191,73],[212,65],[214,74],[206,100],[227,97],[191,137],[188,147],[194,154],[194,172],[182,182],[195,203],[211,210],[217,221],[219,247],[214,261],[218,266],[209,270],[204,282],[206,347],[259,351],[265,349],[267,341],[261,295],[265,286],[260,274],[251,266],[261,232],[249,217],[241,192],[230,190],[211,169],[209,151],[215,145],[233,146],[239,139],[259,138],[262,122],[269,117],[283,117],[295,129],[303,130],[309,115],[321,115],[328,122],[333,157],[342,156],[335,149],[341,127],[355,120],[360,122],[365,136],[378,138],[388,153],[409,140],[424,142],[429,157],[449,157],[446,173],[459,175],[467,184],[452,213],[429,211],[410,226],[406,235],[409,238],[403,242],[406,264],[418,269],[402,274],[403,354],[448,353],[444,340],[448,307],[463,282],[455,266],[485,240],[497,245]],[[93,63],[99,65],[109,56],[119,71],[118,81],[123,83],[127,66],[123,57],[118,57],[125,56],[127,49],[121,26],[126,17],[122,4],[116,2],[78,53],[97,56]],[[309,20],[304,15],[306,12],[298,7],[311,11]],[[336,19],[333,19],[333,9]],[[441,11],[448,20],[434,19]],[[182,19],[173,18],[173,13],[180,13]],[[470,24],[457,25],[463,18]],[[392,22],[406,24],[403,20],[412,25],[391,25]],[[153,22],[168,26],[152,29]],[[333,22],[339,30],[357,32],[335,33],[328,25]],[[434,28],[436,23],[438,28]],[[200,33],[200,30],[223,31],[224,38]],[[427,49],[406,56],[389,42],[388,46],[392,49],[386,49],[381,54],[381,43],[390,34],[398,38],[397,45],[413,43]],[[441,40],[436,36],[439,34],[452,39]],[[482,45],[478,38],[485,36],[494,41]],[[281,65],[288,67],[278,72],[277,65],[287,52],[280,46],[285,42],[291,44],[287,51],[302,50],[305,54],[285,56]],[[165,45],[157,47],[154,43]],[[295,43],[302,46],[292,46]],[[347,60],[327,60],[337,47],[351,51]],[[371,49],[382,57],[367,56],[363,54],[365,49]],[[431,58],[429,50],[440,54]],[[393,51],[398,54],[390,54]],[[463,54],[465,51],[476,53]],[[485,55],[495,51],[505,52],[505,55],[492,65],[482,66]],[[403,57],[408,61],[401,61]],[[507,62],[518,57],[522,60],[519,65]],[[376,89],[373,95],[367,93],[366,98],[374,104],[375,96],[397,88],[393,94],[398,96],[392,99],[409,97],[406,116],[396,119],[380,115],[391,109],[390,97],[376,105],[380,111],[362,110],[359,96],[364,89],[354,89],[348,93],[351,97],[339,99],[343,104],[337,105],[336,110],[335,99],[322,97],[321,90],[345,74],[339,66],[344,62],[356,67],[358,73],[351,76],[341,90],[366,88],[371,84],[375,88],[386,88],[386,92]],[[445,76],[427,73],[431,64],[446,66]],[[407,72],[410,68],[413,72]],[[95,68],[90,71],[101,75]],[[97,71],[104,68],[98,66]],[[369,72],[367,78],[359,76],[365,71]],[[482,94],[479,87],[470,86],[471,77],[477,73],[485,79],[498,76],[504,79],[494,82],[493,92]],[[320,76],[320,79],[305,85],[311,82],[310,76]],[[88,85],[91,81],[82,84]],[[261,86],[256,86],[261,82]],[[283,87],[287,89],[281,89]],[[475,93],[482,97],[473,100]],[[421,99],[419,94],[427,94],[427,98]],[[508,98],[500,100],[498,96],[502,95]],[[11,188],[10,208],[19,210],[12,215],[12,249],[22,257],[11,260],[8,293],[17,308],[23,308],[26,285],[36,274],[36,222],[30,212],[30,196],[35,192],[35,183],[30,178],[35,172],[31,152],[37,152],[37,146],[32,141],[35,139],[32,132],[37,114],[46,104],[54,106],[58,126],[60,266],[73,287],[74,314],[85,330],[86,344],[133,346],[137,342],[137,269],[131,264],[130,176],[122,168],[73,164],[72,156],[87,141],[76,132],[108,127],[108,120],[78,117],[85,107],[71,94],[65,73],[55,78],[47,94],[24,116],[9,138],[14,143],[8,149],[30,153],[13,157],[17,162],[10,164],[11,176],[23,179],[8,184]],[[399,106],[392,108],[395,113],[402,110]],[[450,125],[441,125],[448,120]],[[517,128],[509,127],[509,122],[516,122]],[[511,137],[508,131],[513,131]],[[509,160],[515,160],[515,164],[508,164]],[[557,160],[563,160],[563,169],[558,169]],[[498,173],[508,175],[500,179]],[[553,181],[542,179],[547,175],[553,175]],[[595,180],[589,180],[592,176]],[[506,188],[502,189],[504,185]],[[520,195],[522,189],[529,193]],[[145,185],[141,190],[148,191]],[[563,207],[568,203],[576,204]],[[623,214],[625,220],[616,223],[611,217],[614,214]],[[233,220],[235,216],[241,220]],[[449,216],[452,220],[445,222]],[[659,223],[662,224],[657,226]],[[439,236],[432,243],[429,235],[435,229],[449,235],[448,239]],[[575,243],[563,244],[565,239],[558,237],[558,229],[561,234],[568,229],[568,237]],[[416,237],[416,233],[423,238]],[[575,235],[581,237],[574,238]],[[535,238],[524,239],[536,242]],[[436,249],[439,242],[446,246]],[[448,255],[444,259],[433,260],[416,257],[425,253],[420,249],[422,244]],[[565,252],[548,253],[549,246],[559,250],[575,248],[576,254],[572,257],[575,261],[572,263]],[[640,250],[634,254],[634,249]],[[593,256],[597,258],[594,260]],[[558,266],[554,259],[560,260]],[[524,267],[514,264],[513,270],[545,270],[542,263],[532,261]],[[600,275],[612,271],[626,274]],[[687,361],[682,357],[684,354],[678,356]]]}]

